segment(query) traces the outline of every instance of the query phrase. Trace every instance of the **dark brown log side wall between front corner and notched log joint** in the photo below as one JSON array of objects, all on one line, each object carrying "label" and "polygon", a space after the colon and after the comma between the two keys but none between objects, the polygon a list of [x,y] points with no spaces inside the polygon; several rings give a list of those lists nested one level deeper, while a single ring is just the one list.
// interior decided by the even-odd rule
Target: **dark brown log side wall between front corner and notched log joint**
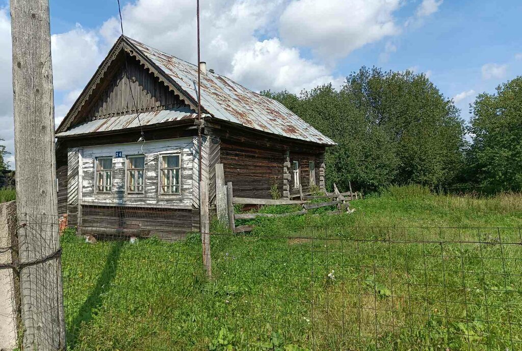
[{"label": "dark brown log side wall between front corner and notched log joint", "polygon": [[221,163],[226,182],[232,182],[234,196],[270,198],[270,188],[283,188],[283,153],[221,139]]}]

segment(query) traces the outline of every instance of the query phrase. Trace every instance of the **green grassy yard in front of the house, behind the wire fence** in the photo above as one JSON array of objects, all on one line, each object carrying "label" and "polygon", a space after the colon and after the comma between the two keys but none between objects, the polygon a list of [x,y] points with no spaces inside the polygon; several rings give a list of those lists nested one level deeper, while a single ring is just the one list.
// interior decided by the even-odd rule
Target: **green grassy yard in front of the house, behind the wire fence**
[{"label": "green grassy yard in front of the house, behind the wire fence", "polygon": [[197,235],[87,244],[65,233],[69,347],[520,348],[520,232],[471,228],[520,226],[520,195],[392,188],[352,205],[352,215],[256,219],[250,235],[213,235],[210,281]]}]

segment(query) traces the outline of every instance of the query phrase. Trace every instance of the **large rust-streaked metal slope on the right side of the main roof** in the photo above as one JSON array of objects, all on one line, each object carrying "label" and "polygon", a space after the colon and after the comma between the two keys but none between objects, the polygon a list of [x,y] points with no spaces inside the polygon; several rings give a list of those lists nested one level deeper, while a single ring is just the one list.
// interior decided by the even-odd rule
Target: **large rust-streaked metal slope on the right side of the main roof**
[{"label": "large rust-streaked metal slope on the right side of the main roof", "polygon": [[[196,65],[131,38],[126,39],[173,79],[189,97],[197,101]],[[213,118],[238,123],[255,130],[312,143],[336,145],[278,101],[261,96],[227,77],[209,71],[201,75],[201,107]]]}]

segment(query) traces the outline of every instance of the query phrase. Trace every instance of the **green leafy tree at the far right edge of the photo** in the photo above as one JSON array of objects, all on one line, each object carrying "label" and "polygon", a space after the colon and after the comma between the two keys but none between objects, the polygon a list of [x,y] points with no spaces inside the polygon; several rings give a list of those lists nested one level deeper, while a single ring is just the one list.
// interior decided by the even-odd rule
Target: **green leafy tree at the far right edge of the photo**
[{"label": "green leafy tree at the far right edge of the photo", "polygon": [[470,162],[476,181],[522,189],[522,76],[482,93],[471,105]]}]

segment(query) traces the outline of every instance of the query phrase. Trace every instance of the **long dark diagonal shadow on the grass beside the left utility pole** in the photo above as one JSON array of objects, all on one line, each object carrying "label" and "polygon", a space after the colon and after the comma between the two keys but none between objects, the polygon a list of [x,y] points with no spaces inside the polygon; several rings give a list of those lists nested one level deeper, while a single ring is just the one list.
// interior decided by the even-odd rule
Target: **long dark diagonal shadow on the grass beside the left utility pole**
[{"label": "long dark diagonal shadow on the grass beside the left utility pole", "polygon": [[84,304],[81,305],[78,310],[78,314],[73,320],[72,325],[67,333],[67,345],[73,348],[76,344],[80,327],[82,323],[89,323],[94,316],[98,313],[97,310],[103,304],[103,294],[110,289],[110,283],[116,275],[118,267],[118,259],[123,247],[123,242],[117,241],[112,245],[111,251],[107,255],[105,266],[103,271],[96,282],[96,286],[92,290],[91,294],[87,297]]}]

